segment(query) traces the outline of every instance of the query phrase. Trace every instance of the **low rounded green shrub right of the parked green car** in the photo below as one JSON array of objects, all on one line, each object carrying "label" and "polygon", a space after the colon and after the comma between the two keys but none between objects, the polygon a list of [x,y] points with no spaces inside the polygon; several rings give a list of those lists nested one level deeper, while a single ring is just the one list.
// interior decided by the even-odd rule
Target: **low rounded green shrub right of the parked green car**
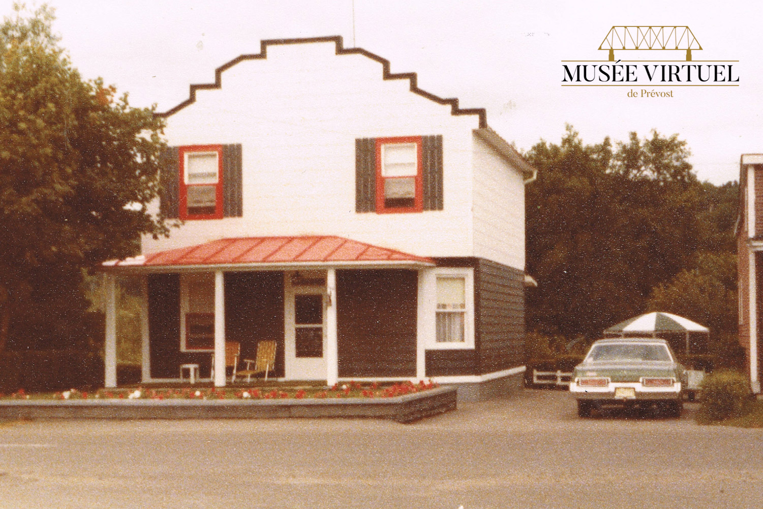
[{"label": "low rounded green shrub right of the parked green car", "polygon": [[707,375],[700,387],[702,405],[697,412],[700,424],[740,417],[752,408],[752,391],[742,372],[718,370]]}]

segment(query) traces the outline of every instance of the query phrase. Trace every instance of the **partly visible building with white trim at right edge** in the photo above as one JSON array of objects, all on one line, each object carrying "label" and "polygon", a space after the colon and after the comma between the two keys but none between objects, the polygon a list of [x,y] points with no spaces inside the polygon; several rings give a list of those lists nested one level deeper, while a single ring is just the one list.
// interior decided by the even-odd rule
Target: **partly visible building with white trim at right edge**
[{"label": "partly visible building with white trim at right edge", "polygon": [[761,391],[761,298],[763,298],[763,154],[742,154],[736,253],[739,267],[739,343],[755,393]]}]

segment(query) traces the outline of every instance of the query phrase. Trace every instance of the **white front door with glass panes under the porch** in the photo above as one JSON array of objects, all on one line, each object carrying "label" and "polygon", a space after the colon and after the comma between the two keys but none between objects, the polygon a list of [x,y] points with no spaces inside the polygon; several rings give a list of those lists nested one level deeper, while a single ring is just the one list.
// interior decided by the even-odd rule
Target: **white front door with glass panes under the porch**
[{"label": "white front door with glass panes under the porch", "polygon": [[325,271],[285,273],[285,371],[289,380],[326,379],[325,281]]}]

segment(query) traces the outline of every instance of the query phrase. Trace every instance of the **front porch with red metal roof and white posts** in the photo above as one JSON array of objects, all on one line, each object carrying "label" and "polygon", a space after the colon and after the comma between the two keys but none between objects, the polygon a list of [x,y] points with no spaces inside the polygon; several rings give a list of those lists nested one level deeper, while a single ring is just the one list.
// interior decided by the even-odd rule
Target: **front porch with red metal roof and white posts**
[{"label": "front porch with red metal roof and white posts", "polygon": [[116,275],[143,285],[143,385],[179,383],[184,365],[230,385],[226,344],[240,345],[240,370],[261,341],[275,342],[278,382],[424,379],[434,309],[418,318],[434,299],[420,292],[433,266],[341,237],[220,240],[105,264],[105,386],[117,385]]}]

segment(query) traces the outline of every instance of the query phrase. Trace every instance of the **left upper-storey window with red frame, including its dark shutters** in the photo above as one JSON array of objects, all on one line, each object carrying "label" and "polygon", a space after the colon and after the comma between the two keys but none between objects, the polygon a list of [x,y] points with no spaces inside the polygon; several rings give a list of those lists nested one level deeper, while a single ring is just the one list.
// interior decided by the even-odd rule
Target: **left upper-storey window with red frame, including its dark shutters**
[{"label": "left upper-storey window with red frame, including its dark shutters", "polygon": [[159,207],[165,217],[188,221],[241,217],[241,170],[239,143],[167,147]]}]

